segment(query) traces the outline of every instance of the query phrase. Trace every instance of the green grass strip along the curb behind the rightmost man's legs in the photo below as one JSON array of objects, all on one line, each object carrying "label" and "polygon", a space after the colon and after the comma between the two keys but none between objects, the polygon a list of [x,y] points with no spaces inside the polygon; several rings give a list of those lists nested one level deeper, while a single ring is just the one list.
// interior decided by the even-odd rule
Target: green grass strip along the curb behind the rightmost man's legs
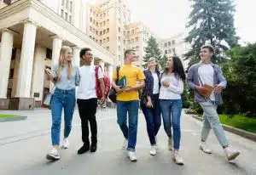
[{"label": "green grass strip along the curb behind the rightmost man's legs", "polygon": [[[202,115],[199,115],[202,117]],[[221,123],[247,132],[256,133],[256,118],[243,115],[219,115]]]}]

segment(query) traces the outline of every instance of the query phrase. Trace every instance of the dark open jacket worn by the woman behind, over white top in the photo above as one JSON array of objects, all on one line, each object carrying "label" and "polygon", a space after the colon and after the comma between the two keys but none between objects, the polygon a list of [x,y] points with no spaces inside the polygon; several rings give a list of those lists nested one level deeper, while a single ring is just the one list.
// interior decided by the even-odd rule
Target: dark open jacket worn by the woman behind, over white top
[{"label": "dark open jacket worn by the woman behind, over white top", "polygon": [[[154,88],[154,77],[152,76],[151,71],[145,70],[143,71],[144,75],[146,76],[145,79],[145,92],[147,96],[153,96],[153,88]],[[156,74],[159,78],[159,88],[160,88],[160,71],[156,71]]]}]

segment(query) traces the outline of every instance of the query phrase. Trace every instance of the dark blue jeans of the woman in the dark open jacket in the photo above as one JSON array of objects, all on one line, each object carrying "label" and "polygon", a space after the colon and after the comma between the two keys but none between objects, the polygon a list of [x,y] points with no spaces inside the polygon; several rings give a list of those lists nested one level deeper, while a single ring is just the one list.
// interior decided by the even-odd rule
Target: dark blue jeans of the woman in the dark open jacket
[{"label": "dark blue jeans of the woman in the dark open jacket", "polygon": [[147,108],[146,105],[143,104],[143,101],[141,101],[141,107],[147,122],[147,132],[150,144],[154,145],[155,136],[161,126],[159,94],[154,94],[151,100],[154,104],[154,108]]}]

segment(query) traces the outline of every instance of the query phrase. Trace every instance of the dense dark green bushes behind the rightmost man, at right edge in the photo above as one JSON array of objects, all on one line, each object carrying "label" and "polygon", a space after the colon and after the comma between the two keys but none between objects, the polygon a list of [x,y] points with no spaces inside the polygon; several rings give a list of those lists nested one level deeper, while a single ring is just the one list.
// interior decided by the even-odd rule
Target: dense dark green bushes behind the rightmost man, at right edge
[{"label": "dense dark green bushes behind the rightmost man, at right edge", "polygon": [[227,51],[222,64],[228,87],[224,91],[225,113],[256,116],[256,43]]}]

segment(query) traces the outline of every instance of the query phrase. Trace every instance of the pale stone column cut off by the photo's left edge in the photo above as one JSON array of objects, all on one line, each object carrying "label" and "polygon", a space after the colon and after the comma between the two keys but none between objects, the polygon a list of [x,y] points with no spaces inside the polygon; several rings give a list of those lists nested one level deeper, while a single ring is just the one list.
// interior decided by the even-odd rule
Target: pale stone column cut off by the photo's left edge
[{"label": "pale stone column cut off by the photo's left edge", "polygon": [[0,48],[0,99],[6,99],[13,42],[14,32],[3,29]]}]

